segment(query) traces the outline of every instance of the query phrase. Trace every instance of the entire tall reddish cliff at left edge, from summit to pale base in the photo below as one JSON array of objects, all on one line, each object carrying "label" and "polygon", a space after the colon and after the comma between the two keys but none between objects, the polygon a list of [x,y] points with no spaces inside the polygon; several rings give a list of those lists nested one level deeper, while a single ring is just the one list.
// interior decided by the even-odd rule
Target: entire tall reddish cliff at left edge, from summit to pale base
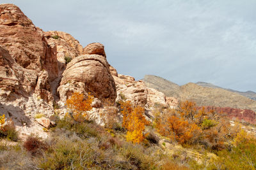
[{"label": "entire tall reddish cliff at left edge, from summit to pale base", "polygon": [[0,4],[0,113],[12,117],[21,134],[38,131],[36,113],[54,113],[51,82],[57,76],[56,46],[17,6]]}]

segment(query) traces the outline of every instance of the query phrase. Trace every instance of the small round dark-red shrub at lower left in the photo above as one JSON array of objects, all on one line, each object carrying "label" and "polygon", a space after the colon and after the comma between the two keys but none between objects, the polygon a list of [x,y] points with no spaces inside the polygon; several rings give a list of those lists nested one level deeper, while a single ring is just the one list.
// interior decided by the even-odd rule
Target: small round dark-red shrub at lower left
[{"label": "small round dark-red shrub at lower left", "polygon": [[24,148],[32,155],[40,155],[48,146],[37,137],[29,136],[23,144]]}]

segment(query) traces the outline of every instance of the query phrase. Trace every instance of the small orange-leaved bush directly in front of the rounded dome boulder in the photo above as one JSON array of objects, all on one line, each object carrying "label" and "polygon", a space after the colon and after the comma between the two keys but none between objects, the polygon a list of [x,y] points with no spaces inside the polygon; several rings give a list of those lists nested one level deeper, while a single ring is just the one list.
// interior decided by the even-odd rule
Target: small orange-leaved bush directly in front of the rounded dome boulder
[{"label": "small orange-leaved bush directly in front of the rounded dome boulder", "polygon": [[67,99],[66,106],[70,113],[68,117],[74,118],[77,122],[83,122],[84,118],[87,118],[86,111],[92,110],[93,96],[88,94],[88,97],[84,99],[84,95],[78,92],[74,92],[70,98]]}]

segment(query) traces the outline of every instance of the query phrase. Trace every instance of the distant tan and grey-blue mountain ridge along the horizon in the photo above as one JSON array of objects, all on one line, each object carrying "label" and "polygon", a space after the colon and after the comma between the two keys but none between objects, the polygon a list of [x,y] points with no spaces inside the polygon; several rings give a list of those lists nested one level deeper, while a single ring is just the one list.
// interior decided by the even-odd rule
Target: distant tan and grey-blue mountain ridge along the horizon
[{"label": "distant tan and grey-blue mountain ridge along the horizon", "polygon": [[182,101],[195,101],[199,106],[230,107],[256,111],[255,92],[238,92],[204,82],[187,83],[179,86],[172,81],[154,75],[145,75],[143,81],[147,87],[159,90],[166,96],[177,97]]}]

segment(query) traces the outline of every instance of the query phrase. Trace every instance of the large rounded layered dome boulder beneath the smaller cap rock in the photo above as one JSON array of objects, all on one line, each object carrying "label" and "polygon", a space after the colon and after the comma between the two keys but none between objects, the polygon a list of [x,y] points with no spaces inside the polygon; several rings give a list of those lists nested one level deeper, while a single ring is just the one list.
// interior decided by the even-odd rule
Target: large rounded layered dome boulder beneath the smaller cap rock
[{"label": "large rounded layered dome boulder beneath the smaller cap rock", "polygon": [[81,55],[67,64],[58,88],[65,101],[74,91],[90,92],[98,99],[116,99],[116,86],[106,57],[97,54]]}]

